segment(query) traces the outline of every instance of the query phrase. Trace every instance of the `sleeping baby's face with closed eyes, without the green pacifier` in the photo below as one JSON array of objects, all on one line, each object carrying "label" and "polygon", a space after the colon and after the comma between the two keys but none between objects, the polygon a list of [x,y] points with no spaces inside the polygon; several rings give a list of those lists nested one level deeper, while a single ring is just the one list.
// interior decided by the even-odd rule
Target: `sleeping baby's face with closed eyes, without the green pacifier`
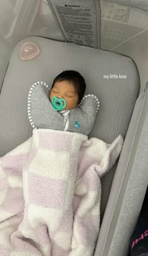
[{"label": "sleeping baby's face with closed eyes, without the green pacifier", "polygon": [[73,84],[66,80],[55,82],[50,91],[50,101],[53,96],[65,99],[66,107],[64,109],[73,109],[78,104],[78,92],[75,91]]}]

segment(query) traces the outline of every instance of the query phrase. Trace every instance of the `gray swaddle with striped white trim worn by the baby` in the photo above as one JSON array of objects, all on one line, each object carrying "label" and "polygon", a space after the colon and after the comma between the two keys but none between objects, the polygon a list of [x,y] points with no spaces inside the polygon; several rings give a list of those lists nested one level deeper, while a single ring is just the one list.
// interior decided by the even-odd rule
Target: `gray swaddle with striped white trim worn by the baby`
[{"label": "gray swaddle with striped white trim worn by the baby", "polygon": [[[33,128],[65,130],[65,121],[59,111],[54,111],[48,97],[50,87],[45,82],[35,82],[28,95],[28,116]],[[75,109],[68,113],[67,131],[88,135],[95,123],[100,103],[97,96],[87,94]]]}]

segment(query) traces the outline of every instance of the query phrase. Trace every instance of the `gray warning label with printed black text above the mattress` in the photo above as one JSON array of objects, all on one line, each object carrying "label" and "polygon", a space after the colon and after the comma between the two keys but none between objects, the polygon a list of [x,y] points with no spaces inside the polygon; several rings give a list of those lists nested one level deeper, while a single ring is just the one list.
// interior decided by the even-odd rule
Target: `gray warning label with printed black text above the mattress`
[{"label": "gray warning label with printed black text above the mattress", "polygon": [[50,0],[68,42],[97,48],[97,10],[94,0]]}]

